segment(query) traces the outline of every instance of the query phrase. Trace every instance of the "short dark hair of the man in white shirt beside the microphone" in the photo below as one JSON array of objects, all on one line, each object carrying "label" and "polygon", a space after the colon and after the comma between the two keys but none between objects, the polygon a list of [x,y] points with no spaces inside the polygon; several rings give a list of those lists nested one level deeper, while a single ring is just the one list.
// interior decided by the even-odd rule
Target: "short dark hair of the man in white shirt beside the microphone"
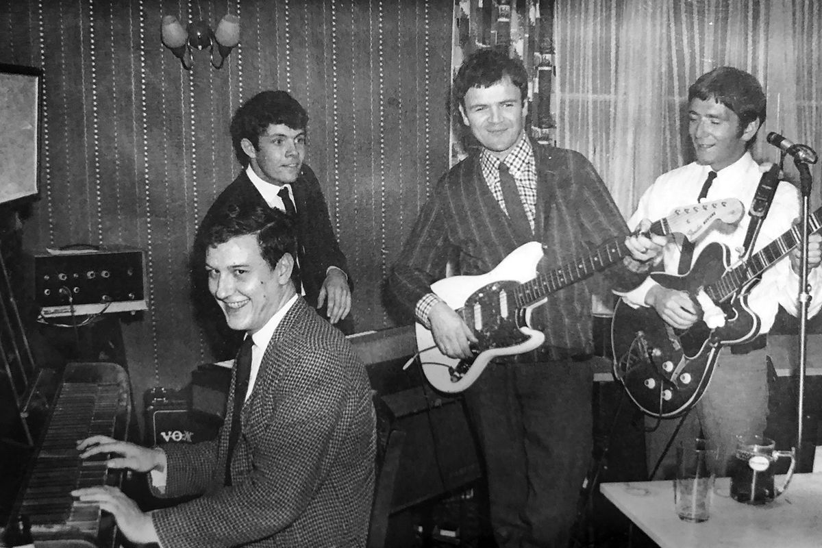
[{"label": "short dark hair of the man in white shirt beside the microphone", "polygon": [[[694,99],[714,99],[725,105],[739,117],[740,135],[757,118],[761,126],[768,109],[760,81],[736,67],[717,67],[705,72],[688,88],[688,103]],[[747,146],[753,145],[755,139],[756,136],[749,140]]]}]

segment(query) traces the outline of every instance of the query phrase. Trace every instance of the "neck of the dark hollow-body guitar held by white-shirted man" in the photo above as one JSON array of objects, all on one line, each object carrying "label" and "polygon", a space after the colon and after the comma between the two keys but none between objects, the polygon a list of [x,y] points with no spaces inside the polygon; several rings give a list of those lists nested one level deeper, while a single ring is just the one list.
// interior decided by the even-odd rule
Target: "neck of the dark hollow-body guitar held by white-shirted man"
[{"label": "neck of the dark hollow-body guitar held by white-shirted man", "polygon": [[[818,232],[822,228],[822,207],[810,215],[808,219],[809,233]],[[705,288],[705,293],[713,302],[724,302],[739,288],[762,274],[776,261],[786,256],[802,241],[801,225],[797,224],[782,236],[764,246],[760,251],[750,256],[741,265],[723,274],[722,278]]]}]

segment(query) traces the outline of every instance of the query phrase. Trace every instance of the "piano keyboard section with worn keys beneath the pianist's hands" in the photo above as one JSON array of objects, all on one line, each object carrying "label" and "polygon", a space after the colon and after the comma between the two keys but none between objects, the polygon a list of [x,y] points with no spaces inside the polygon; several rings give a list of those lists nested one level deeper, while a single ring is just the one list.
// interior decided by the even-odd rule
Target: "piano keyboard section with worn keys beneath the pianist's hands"
[{"label": "piano keyboard section with worn keys beneath the pianist's hands", "polygon": [[121,472],[109,470],[104,457],[81,460],[76,441],[97,434],[125,440],[130,394],[127,374],[118,364],[67,364],[44,433],[35,440],[33,458],[8,513],[8,518],[18,513],[29,516],[38,548],[116,546],[113,519],[103,516],[96,504],[75,500],[71,491],[119,485]]}]

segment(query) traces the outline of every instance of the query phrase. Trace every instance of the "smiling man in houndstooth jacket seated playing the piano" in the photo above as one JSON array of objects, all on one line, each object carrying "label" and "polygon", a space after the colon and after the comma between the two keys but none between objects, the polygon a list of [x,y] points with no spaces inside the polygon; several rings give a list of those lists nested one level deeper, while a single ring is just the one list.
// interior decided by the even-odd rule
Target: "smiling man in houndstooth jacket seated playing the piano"
[{"label": "smiling man in houndstooth jacket seated playing the piano", "polygon": [[[217,440],[148,449],[92,436],[81,457],[151,472],[165,496],[142,513],[111,486],[75,490],[133,542],[178,546],[364,546],[374,486],[375,417],[365,367],[298,295],[292,220],[229,204],[201,228],[209,288],[246,337]],[[236,417],[236,419],[235,419]]]}]

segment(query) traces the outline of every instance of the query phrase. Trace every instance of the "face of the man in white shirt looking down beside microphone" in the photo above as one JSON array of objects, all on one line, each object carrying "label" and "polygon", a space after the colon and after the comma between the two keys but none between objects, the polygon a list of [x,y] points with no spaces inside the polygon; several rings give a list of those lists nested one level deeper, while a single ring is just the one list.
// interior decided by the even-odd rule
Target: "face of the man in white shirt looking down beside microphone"
[{"label": "face of the man in white shirt looking down beside microphone", "polygon": [[759,128],[758,119],[740,127],[737,114],[713,98],[692,99],[688,120],[696,163],[709,165],[713,171],[727,168],[740,159],[745,154],[746,143]]}]

